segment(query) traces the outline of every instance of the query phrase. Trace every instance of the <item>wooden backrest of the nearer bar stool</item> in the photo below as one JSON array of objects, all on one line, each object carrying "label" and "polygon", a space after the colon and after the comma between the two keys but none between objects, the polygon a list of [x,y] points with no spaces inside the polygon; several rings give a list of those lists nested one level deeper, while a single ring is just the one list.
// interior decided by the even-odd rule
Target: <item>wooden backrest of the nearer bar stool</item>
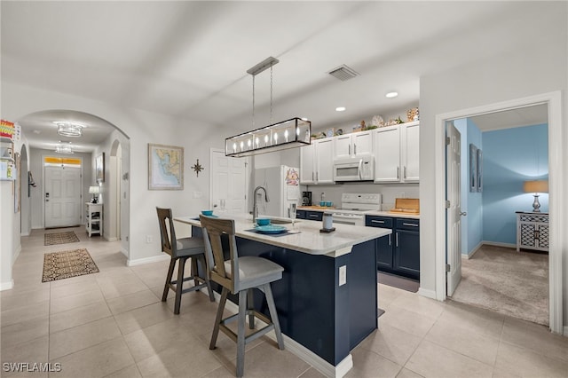
[{"label": "wooden backrest of the nearer bar stool", "polygon": [[[237,252],[233,219],[201,215],[200,222],[205,242],[205,255],[209,265],[209,280],[214,280],[233,294],[238,293],[240,291],[239,253]],[[229,239],[230,255],[229,260],[226,261],[221,238],[223,235],[226,235]]]}]

